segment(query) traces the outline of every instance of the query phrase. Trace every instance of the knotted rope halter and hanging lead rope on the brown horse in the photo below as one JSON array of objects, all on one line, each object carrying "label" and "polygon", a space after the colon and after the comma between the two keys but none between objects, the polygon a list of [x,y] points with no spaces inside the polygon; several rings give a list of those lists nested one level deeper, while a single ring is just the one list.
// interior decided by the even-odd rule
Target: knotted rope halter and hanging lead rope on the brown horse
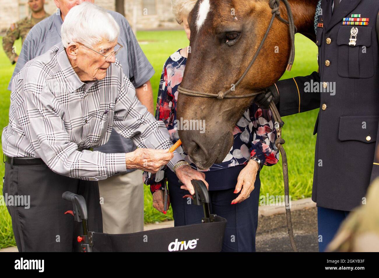
[{"label": "knotted rope halter and hanging lead rope on the brown horse", "polygon": [[[291,51],[290,51],[290,57],[288,59],[288,64],[286,70],[290,71],[293,65],[293,61],[295,58],[295,33],[296,33],[296,26],[294,25],[293,21],[293,15],[291,11],[290,4],[288,3],[288,0],[282,0],[282,2],[285,5],[285,8],[287,10],[287,16],[288,20],[283,19],[280,16],[280,11],[279,11],[279,5],[280,5],[280,0],[269,0],[269,5],[271,8],[271,13],[273,16],[271,17],[271,21],[267,27],[266,33],[263,36],[263,39],[258,46],[257,51],[254,54],[254,57],[252,58],[250,64],[247,66],[246,70],[244,71],[243,75],[241,76],[240,79],[236,82],[234,88],[240,84],[240,82],[244,79],[246,76],[247,72],[250,70],[251,66],[254,64],[255,59],[257,58],[260,50],[262,49],[263,43],[266,40],[266,37],[268,36],[268,33],[271,29],[271,26],[273,25],[275,17],[277,17],[280,21],[288,24],[288,29],[290,32],[290,39],[291,39]],[[232,92],[232,88],[227,90],[226,92],[218,92],[217,94],[213,93],[205,93],[205,92],[197,92],[193,90],[188,90],[185,88],[182,88],[181,86],[178,87],[178,92],[182,93],[184,95],[189,95],[189,96],[201,96],[205,98],[217,98],[217,99],[224,99],[224,98],[247,98],[249,96],[255,96],[260,93],[265,92],[265,90],[259,91],[259,92],[254,92],[254,93],[249,93],[246,95],[227,95],[228,93]],[[282,118],[280,118],[279,111],[276,108],[276,105],[274,103],[270,103],[269,108],[271,109],[271,112],[273,113],[273,118],[274,118],[274,125],[275,129],[277,130],[277,138],[275,140],[275,146],[277,149],[279,149],[280,154],[282,155],[282,165],[283,165],[283,181],[284,181],[284,195],[285,195],[285,212],[286,212],[286,219],[287,219],[287,229],[288,229],[288,236],[290,238],[291,242],[291,247],[294,252],[298,252],[298,248],[296,247],[295,244],[295,239],[293,236],[293,229],[292,229],[292,221],[291,221],[291,210],[290,210],[290,204],[289,204],[289,186],[288,186],[288,165],[287,165],[287,155],[284,151],[283,144],[285,143],[284,139],[282,138],[282,126],[284,125],[284,122],[282,121]]]}]

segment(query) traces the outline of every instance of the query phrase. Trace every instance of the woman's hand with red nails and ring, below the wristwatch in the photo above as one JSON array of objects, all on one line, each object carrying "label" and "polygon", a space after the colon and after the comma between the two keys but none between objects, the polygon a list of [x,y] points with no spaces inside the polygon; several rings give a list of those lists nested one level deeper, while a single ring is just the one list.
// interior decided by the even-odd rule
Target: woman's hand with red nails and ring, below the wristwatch
[{"label": "woman's hand with red nails and ring, below the wristwatch", "polygon": [[241,203],[250,197],[251,191],[254,190],[254,183],[257,177],[259,166],[258,162],[255,160],[250,160],[245,168],[242,169],[240,174],[238,175],[237,185],[234,193],[238,193],[241,191],[241,194],[238,195],[236,199],[232,201],[232,205],[236,203]]}]

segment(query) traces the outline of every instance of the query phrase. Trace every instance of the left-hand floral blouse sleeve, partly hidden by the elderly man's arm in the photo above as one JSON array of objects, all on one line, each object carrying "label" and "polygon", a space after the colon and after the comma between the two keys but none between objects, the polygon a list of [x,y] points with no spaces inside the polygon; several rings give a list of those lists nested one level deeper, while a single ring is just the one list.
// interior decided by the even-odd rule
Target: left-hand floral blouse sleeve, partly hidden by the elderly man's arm
[{"label": "left-hand floral blouse sleeve, partly hidden by the elderly man's arm", "polygon": [[[157,97],[157,109],[155,110],[155,120],[163,121],[165,124],[169,121],[169,113],[165,113],[164,104],[167,97],[167,74],[166,74],[166,65],[163,66],[161,79],[159,82],[158,97]],[[163,111],[161,113],[161,111]],[[166,124],[166,126],[168,126]],[[166,177],[165,177],[166,166],[156,174],[149,173],[147,171],[143,172],[143,179],[146,185],[150,185],[150,192],[153,194],[157,190],[164,189],[166,186]]]}]

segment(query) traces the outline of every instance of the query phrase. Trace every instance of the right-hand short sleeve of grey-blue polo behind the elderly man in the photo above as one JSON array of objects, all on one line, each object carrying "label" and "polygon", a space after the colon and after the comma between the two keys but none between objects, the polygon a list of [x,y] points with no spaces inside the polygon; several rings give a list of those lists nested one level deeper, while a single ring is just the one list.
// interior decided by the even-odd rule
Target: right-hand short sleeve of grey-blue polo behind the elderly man
[{"label": "right-hand short sleeve of grey-blue polo behind the elderly man", "polygon": [[135,88],[141,87],[149,81],[154,75],[153,66],[147,60],[139,43],[125,17],[121,17],[122,31],[124,31],[127,40],[129,78]]}]

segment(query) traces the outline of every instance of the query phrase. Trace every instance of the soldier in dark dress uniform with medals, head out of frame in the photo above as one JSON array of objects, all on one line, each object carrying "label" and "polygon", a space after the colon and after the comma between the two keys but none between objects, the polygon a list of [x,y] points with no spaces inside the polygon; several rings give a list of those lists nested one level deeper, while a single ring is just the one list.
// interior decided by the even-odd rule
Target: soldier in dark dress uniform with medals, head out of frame
[{"label": "soldier in dark dress uniform with medals, head out of frame", "polygon": [[321,0],[319,73],[279,81],[256,98],[262,107],[279,101],[282,116],[321,108],[312,190],[320,252],[349,211],[365,203],[370,180],[379,176],[378,10],[377,1]]}]

